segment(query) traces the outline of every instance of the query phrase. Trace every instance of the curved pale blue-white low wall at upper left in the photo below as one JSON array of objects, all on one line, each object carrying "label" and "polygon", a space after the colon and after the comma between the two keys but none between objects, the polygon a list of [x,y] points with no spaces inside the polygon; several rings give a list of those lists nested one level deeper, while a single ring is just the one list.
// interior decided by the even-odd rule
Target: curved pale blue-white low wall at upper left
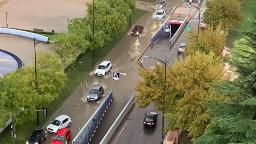
[{"label": "curved pale blue-white low wall at upper left", "polygon": [[12,28],[0,28],[0,34],[11,34],[11,35],[15,35],[15,36],[22,36],[25,38],[32,38],[32,39],[35,38],[38,41],[48,41],[49,40],[48,37],[42,36],[40,34],[26,32],[23,30],[16,30],[16,29],[12,29]]}]

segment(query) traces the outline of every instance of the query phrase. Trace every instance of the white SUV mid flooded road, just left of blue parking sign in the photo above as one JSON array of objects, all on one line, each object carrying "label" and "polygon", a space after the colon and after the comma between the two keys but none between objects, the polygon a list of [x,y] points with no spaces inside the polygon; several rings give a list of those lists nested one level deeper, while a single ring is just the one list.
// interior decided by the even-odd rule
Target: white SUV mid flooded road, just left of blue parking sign
[{"label": "white SUV mid flooded road, just left of blue parking sign", "polygon": [[97,69],[95,70],[95,75],[105,76],[111,69],[112,69],[111,62],[104,60],[103,62],[100,63],[99,66],[97,66]]}]

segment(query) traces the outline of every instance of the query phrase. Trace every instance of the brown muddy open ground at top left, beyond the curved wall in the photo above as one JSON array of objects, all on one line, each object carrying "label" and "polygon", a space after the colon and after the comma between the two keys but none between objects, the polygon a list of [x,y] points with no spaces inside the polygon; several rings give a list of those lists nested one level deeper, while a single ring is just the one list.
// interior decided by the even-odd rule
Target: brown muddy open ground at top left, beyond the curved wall
[{"label": "brown muddy open ground at top left, beyond the curved wall", "polygon": [[0,27],[63,32],[67,19],[86,16],[86,3],[92,0],[0,0]]}]

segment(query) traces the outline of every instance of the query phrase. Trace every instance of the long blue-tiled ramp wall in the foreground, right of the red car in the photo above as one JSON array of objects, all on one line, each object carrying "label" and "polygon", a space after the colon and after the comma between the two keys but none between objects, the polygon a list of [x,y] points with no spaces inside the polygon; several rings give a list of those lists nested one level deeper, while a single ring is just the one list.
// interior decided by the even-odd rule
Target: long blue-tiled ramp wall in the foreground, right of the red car
[{"label": "long blue-tiled ramp wall in the foreground, right of the red car", "polygon": [[98,125],[100,124],[108,106],[112,102],[112,92],[108,94],[105,100],[100,104],[97,110],[92,114],[90,119],[86,122],[83,128],[78,132],[72,144],[89,144],[96,132]]}]

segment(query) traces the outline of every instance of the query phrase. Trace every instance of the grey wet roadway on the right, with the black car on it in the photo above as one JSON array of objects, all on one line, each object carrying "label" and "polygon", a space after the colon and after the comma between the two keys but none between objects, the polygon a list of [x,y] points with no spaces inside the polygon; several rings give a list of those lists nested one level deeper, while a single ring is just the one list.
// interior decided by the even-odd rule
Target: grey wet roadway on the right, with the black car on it
[{"label": "grey wet roadway on the right, with the black car on it", "polygon": [[[205,1],[202,3],[202,9],[205,9]],[[198,28],[198,16],[196,12],[192,19],[188,22],[191,29]],[[202,15],[201,15],[202,16]],[[169,48],[169,39],[166,38],[159,42],[156,42],[152,47],[148,48],[144,56],[151,56],[158,58],[160,60],[165,60],[167,57],[167,64],[173,64],[175,60],[180,59],[180,54],[178,54],[177,49],[181,42],[188,42],[188,32],[186,28],[183,30],[182,34],[174,44],[172,48]],[[184,55],[182,55],[185,58]],[[144,59],[143,66],[148,69],[154,68],[154,59]],[[124,120],[120,129],[116,131],[114,137],[112,138],[110,144],[157,144],[161,140],[161,130],[162,130],[162,112],[158,112],[158,123],[154,129],[146,129],[143,127],[143,118],[145,112],[154,111],[154,104],[151,103],[146,108],[134,108],[130,115]],[[164,122],[167,125],[167,122]]]}]

